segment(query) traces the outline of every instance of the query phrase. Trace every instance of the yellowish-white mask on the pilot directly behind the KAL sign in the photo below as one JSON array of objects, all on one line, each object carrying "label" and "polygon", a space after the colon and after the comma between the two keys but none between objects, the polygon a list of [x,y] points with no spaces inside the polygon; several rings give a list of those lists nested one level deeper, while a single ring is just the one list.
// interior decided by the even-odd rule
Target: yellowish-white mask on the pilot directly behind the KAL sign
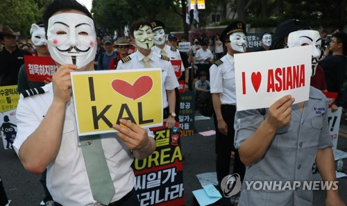
[{"label": "yellowish-white mask on the pilot directly behind the KAL sign", "polygon": [[152,28],[147,25],[140,26],[138,30],[135,30],[134,38],[136,45],[142,49],[151,49],[154,44]]}]

